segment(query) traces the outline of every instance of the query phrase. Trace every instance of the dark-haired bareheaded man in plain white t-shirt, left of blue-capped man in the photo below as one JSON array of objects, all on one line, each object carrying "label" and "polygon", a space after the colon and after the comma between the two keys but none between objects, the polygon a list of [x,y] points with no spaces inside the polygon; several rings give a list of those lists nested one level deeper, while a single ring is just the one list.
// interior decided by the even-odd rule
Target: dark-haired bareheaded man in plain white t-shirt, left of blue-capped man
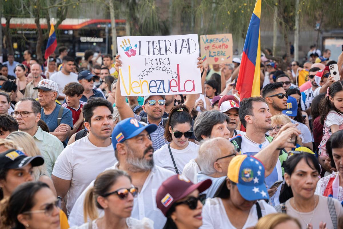
[{"label": "dark-haired bareheaded man in plain white t-shirt, left of blue-capped man", "polygon": [[51,176],[57,195],[62,199],[68,197],[68,214],[87,185],[117,162],[110,138],[114,126],[111,103],[98,97],[91,98],[83,106],[82,113],[89,135],[61,152]]}]

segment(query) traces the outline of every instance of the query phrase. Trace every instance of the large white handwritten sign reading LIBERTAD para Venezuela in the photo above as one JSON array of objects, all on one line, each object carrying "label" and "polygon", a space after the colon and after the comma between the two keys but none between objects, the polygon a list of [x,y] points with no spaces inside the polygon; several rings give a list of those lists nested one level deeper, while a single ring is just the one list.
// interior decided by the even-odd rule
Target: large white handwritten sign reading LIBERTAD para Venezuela
[{"label": "large white handwritten sign reading LIBERTAD para Venezuela", "polygon": [[123,96],[198,94],[197,34],[117,37]]}]

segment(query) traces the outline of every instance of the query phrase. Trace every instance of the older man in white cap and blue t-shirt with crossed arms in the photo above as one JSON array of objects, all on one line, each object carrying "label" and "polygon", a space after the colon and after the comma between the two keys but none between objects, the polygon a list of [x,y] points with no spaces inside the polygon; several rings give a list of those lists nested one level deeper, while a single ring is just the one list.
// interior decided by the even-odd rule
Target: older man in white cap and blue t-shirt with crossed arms
[{"label": "older man in white cap and blue t-shirt with crossed arms", "polygon": [[38,102],[42,106],[41,119],[48,125],[50,134],[60,139],[66,147],[70,130],[73,128],[73,118],[69,109],[55,102],[58,96],[57,83],[43,79],[38,83],[38,87],[33,89],[38,90]]}]

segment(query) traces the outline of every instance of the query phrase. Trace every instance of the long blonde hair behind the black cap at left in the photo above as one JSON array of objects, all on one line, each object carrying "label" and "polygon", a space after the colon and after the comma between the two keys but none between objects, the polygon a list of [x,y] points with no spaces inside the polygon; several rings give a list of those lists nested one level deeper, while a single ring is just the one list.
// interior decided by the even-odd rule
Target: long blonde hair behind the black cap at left
[{"label": "long blonde hair behind the black cap at left", "polygon": [[[25,149],[22,151],[30,157],[38,155],[42,156],[34,138],[24,131],[14,131],[9,134],[6,139],[12,140],[12,142],[16,142],[16,145],[22,149]],[[48,175],[45,164],[33,168],[33,176],[35,178],[35,181],[38,181],[39,177],[42,175]]]}]

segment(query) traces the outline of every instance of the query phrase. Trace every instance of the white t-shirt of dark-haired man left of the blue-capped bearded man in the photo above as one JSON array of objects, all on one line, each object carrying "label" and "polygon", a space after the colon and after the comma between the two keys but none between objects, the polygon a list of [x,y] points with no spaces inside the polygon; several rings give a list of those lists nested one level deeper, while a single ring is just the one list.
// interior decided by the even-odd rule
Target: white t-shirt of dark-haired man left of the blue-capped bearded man
[{"label": "white t-shirt of dark-haired man left of the blue-capped bearded man", "polygon": [[87,137],[68,145],[58,156],[52,175],[63,180],[71,180],[67,193],[68,214],[76,199],[106,168],[117,162],[112,144],[106,147],[93,145]]}]

